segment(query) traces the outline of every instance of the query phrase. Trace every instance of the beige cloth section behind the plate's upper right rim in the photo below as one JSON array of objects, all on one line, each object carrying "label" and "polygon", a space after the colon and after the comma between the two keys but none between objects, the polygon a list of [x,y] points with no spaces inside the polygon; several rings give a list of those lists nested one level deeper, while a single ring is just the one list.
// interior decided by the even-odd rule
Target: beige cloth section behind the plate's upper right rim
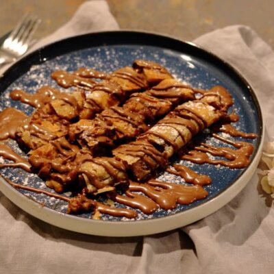
[{"label": "beige cloth section behind the plate's upper right rim", "polygon": [[[274,132],[271,113],[274,110],[274,52],[250,27],[234,25],[204,34],[194,42],[229,62],[242,74],[256,92],[266,125],[266,136],[271,140]],[[266,103],[267,102],[267,103]]]}]

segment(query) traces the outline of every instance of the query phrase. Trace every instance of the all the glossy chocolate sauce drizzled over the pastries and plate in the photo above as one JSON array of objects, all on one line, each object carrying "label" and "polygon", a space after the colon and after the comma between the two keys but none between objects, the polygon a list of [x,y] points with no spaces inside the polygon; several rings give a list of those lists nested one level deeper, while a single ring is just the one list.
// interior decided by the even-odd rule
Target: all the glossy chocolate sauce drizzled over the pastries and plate
[{"label": "all the glossy chocolate sauce drizzled over the pastries and plate", "polygon": [[[153,62],[146,62],[144,60],[137,60],[135,66],[138,69],[154,69],[160,73],[167,73],[166,70]],[[69,88],[71,86],[80,86],[82,88],[88,88],[89,90],[102,90],[110,95],[116,93],[116,95],[122,95],[121,87],[115,84],[114,82],[108,82],[111,80],[111,77],[118,77],[121,79],[126,79],[132,84],[138,86],[139,88],[144,88],[147,86],[147,81],[145,77],[142,77],[136,71],[127,71],[127,69],[121,69],[108,75],[99,71],[92,69],[81,68],[74,73],[67,73],[66,71],[55,71],[52,73],[51,77],[64,88]],[[104,82],[95,82],[91,78],[95,79],[106,79],[108,81]],[[181,90],[179,90],[181,89]],[[133,95],[133,97],[138,97],[140,100],[155,100],[154,97],[164,98],[164,99],[173,99],[175,98],[184,98],[185,93],[182,89],[190,89],[195,93],[200,93],[202,96],[199,99],[201,104],[211,104],[219,108],[220,105],[223,106],[224,110],[227,110],[229,106],[233,104],[232,97],[227,93],[227,91],[221,87],[217,86],[211,90],[199,90],[191,88],[190,86],[184,84],[162,84],[158,87],[150,90],[147,95]],[[62,99],[73,105],[74,108],[77,108],[77,101],[72,95],[66,94],[44,86],[40,88],[35,94],[31,95],[23,90],[14,90],[11,92],[10,97],[14,100],[21,101],[22,103],[27,103],[32,105],[34,108],[41,108],[47,103],[50,103],[54,99]],[[212,98],[215,99],[212,99]],[[218,100],[216,100],[218,97]],[[188,98],[189,99],[189,98]],[[194,95],[192,95],[192,99]],[[95,105],[97,103],[95,100],[90,99]],[[214,100],[216,102],[214,102]],[[98,108],[101,108],[97,105]],[[111,110],[114,114],[102,114],[103,117],[108,117],[112,119],[120,119],[121,121],[126,121],[135,127],[142,127],[143,117],[141,118],[139,114],[134,114],[132,111],[120,108],[112,107]],[[176,116],[177,115],[177,116]],[[197,134],[197,132],[208,127],[208,123],[204,117],[199,114],[199,111],[193,110],[186,105],[182,105],[176,109],[176,115],[169,115],[168,118],[160,121],[159,125],[164,127],[174,128],[179,136],[188,142],[183,132],[176,127],[176,125],[184,125],[191,133],[191,136]],[[102,166],[103,169],[114,178],[114,182],[119,180],[119,173],[125,173],[126,168],[123,161],[120,161],[118,158],[92,158],[91,155],[80,155],[79,147],[76,145],[71,145],[65,138],[59,139],[58,142],[55,142],[55,135],[51,134],[44,127],[40,125],[27,124],[29,117],[23,114],[14,108],[8,108],[3,110],[0,114],[0,140],[5,140],[6,138],[15,138],[16,132],[19,127],[26,127],[29,132],[38,136],[43,140],[47,140],[51,143],[59,153],[62,154],[62,157],[58,160],[47,160],[45,158],[31,157],[30,164],[27,160],[23,159],[20,155],[16,154],[10,147],[7,145],[0,144],[0,155],[5,160],[11,160],[5,164],[0,164],[0,167],[10,166],[10,167],[21,167],[27,172],[32,171],[32,167],[38,168],[43,166],[41,172],[48,172],[49,170],[57,171],[58,173],[53,173],[55,177],[59,176],[60,180],[66,182],[66,178],[70,177],[70,180],[73,181],[75,176],[79,173],[86,175],[89,181],[97,188],[103,188],[105,185],[97,180],[95,175],[88,171],[88,169],[79,168],[79,166],[85,162],[90,161],[94,164]],[[235,127],[230,125],[230,123],[238,121],[238,116],[234,113],[227,116],[227,121],[223,124],[215,127],[216,132],[225,132],[230,136],[242,137],[242,138],[256,138],[256,134],[247,134],[244,132],[238,131]],[[147,130],[147,126],[144,126],[143,131]],[[177,143],[174,140],[171,140],[169,136],[162,134],[160,132],[150,131],[143,134],[135,142],[131,142],[125,146],[120,146],[116,149],[116,152],[120,154],[130,155],[135,158],[142,158],[142,161],[147,164],[151,169],[155,167],[155,162],[158,166],[165,167],[167,158],[164,158],[162,152],[156,149],[155,145],[145,140],[147,134],[154,135],[158,138],[164,140],[167,145],[173,147],[173,151],[179,149]],[[208,163],[208,164],[221,164],[227,166],[230,169],[242,169],[249,164],[249,158],[253,153],[253,145],[249,142],[243,141],[234,141],[228,140],[219,136],[217,134],[212,134],[212,136],[222,142],[232,145],[236,149],[230,147],[213,147],[202,142],[199,146],[196,146],[195,149],[188,151],[188,153],[182,155],[183,160],[189,160],[198,164]],[[214,156],[219,156],[226,158],[227,160],[212,159],[208,157],[208,154]],[[149,157],[143,157],[143,155]],[[72,160],[71,160],[72,159]],[[117,192],[109,192],[108,195],[117,203],[129,206],[131,208],[137,208],[145,214],[152,214],[159,208],[164,210],[172,210],[177,204],[188,205],[198,199],[204,199],[207,197],[208,192],[202,187],[208,184],[211,184],[211,179],[207,175],[199,175],[192,169],[181,164],[174,164],[174,169],[168,168],[167,172],[174,175],[182,177],[186,184],[192,184],[192,186],[184,184],[175,184],[170,182],[162,182],[156,179],[151,179],[145,183],[129,182],[129,187],[125,191],[124,195],[119,195]],[[49,170],[47,170],[49,169]],[[69,174],[66,174],[68,173]],[[70,173],[71,172],[71,173]],[[63,174],[64,173],[64,174]],[[62,199],[69,203],[68,213],[79,212],[79,211],[92,211],[93,218],[96,218],[97,213],[99,214],[109,214],[112,216],[126,217],[129,219],[136,218],[138,215],[136,210],[131,210],[127,208],[117,208],[108,206],[104,203],[99,203],[95,199],[90,199],[90,196],[86,197],[84,194],[79,194],[76,197],[64,197],[63,195],[58,195],[46,190],[40,190],[32,188],[29,186],[22,186],[20,184],[14,184],[9,179],[7,181],[14,187],[20,188],[27,191],[37,192],[40,194],[48,195],[49,197],[54,197],[55,199]],[[136,192],[141,192],[142,195]]]}]

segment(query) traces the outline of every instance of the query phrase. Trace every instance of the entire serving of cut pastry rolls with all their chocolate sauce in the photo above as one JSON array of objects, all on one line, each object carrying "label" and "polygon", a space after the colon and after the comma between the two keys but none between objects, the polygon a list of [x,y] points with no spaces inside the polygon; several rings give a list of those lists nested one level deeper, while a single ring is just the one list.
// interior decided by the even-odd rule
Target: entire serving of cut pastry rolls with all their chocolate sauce
[{"label": "entire serving of cut pastry rolls with all their chocolate sauce", "polygon": [[[44,86],[32,95],[23,90],[11,92],[12,99],[36,110],[29,117],[12,108],[1,112],[0,138],[16,139],[29,158],[21,158],[3,144],[0,154],[12,162],[0,167],[17,166],[37,173],[55,192],[8,182],[15,188],[67,201],[68,213],[88,211],[93,219],[99,219],[100,214],[130,219],[138,216],[130,208],[152,214],[159,208],[172,210],[178,203],[187,205],[204,199],[208,191],[203,186],[211,184],[210,177],[182,164],[166,169],[170,158],[217,121],[221,121],[217,131],[256,138],[229,124],[235,115],[227,115],[233,100],[225,88],[192,88],[155,62],[135,60],[132,67],[110,74],[80,68],[74,73],[55,71],[51,76],[60,86],[74,90]],[[223,121],[227,121],[225,125]],[[203,162],[224,162],[235,168],[236,160],[242,159],[237,153],[248,150],[245,166],[249,163],[251,143],[212,136],[238,151],[201,142],[195,152],[186,151],[182,158],[201,162],[196,156],[204,153]],[[230,162],[209,161],[206,153],[221,155]],[[164,170],[184,178],[185,184],[153,179]],[[56,193],[66,190],[71,191],[71,197]]]}]

